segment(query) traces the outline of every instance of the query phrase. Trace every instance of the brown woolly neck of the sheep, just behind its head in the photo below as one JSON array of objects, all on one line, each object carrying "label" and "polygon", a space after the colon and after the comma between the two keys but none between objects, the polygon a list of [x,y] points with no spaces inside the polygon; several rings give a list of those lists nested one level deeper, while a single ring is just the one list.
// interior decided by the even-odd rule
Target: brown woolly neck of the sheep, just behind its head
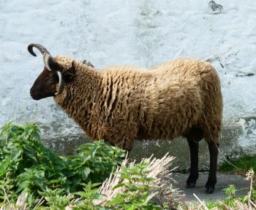
[{"label": "brown woolly neck of the sheep, just behind its head", "polygon": [[97,70],[91,68],[76,69],[75,79],[66,84],[63,96],[56,96],[55,100],[91,139],[101,139],[91,133],[91,118],[97,112],[97,102],[101,94],[102,78]]}]

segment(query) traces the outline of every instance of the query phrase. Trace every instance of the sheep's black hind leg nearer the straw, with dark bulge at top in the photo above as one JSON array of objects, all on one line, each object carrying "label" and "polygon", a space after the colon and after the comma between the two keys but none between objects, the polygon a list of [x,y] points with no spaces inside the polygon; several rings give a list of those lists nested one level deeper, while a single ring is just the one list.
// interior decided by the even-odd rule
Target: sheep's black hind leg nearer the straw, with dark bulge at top
[{"label": "sheep's black hind leg nearer the straw, with dark bulge at top", "polygon": [[187,188],[195,187],[198,179],[198,148],[199,141],[203,139],[203,132],[200,128],[192,128],[187,134],[187,142],[190,152],[190,174],[187,178]]}]

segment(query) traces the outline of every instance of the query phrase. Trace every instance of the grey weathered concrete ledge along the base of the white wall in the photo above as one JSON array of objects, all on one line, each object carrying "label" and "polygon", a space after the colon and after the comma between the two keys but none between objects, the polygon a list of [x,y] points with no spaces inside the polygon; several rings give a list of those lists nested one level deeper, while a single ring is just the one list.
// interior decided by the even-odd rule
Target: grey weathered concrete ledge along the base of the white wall
[{"label": "grey weathered concrete ledge along the base of the white wall", "polygon": [[[238,158],[245,154],[252,154],[250,147],[242,147],[238,139],[241,138],[243,129],[238,123],[225,125],[220,140],[219,163],[225,161],[225,158]],[[69,155],[75,152],[80,144],[89,142],[84,133],[77,135],[58,136],[51,139],[43,138],[45,144],[54,149],[60,155]],[[178,166],[176,171],[188,171],[189,147],[186,139],[178,138],[173,141],[154,140],[154,141],[135,141],[134,147],[130,152],[129,158],[141,160],[148,158],[152,154],[156,158],[162,158],[169,152],[176,157],[173,161],[173,167]],[[255,151],[254,151],[255,152]],[[209,155],[206,141],[200,141],[199,169],[207,171],[209,166]]]}]

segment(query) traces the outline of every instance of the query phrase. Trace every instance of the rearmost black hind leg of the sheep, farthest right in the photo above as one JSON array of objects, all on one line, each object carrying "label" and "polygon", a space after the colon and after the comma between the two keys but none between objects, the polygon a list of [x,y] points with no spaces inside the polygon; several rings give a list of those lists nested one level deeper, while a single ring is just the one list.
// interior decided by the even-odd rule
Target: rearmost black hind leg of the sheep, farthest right
[{"label": "rearmost black hind leg of the sheep, farthest right", "polygon": [[208,180],[206,182],[206,193],[214,193],[214,186],[217,182],[217,158],[218,158],[218,145],[214,141],[208,143],[208,149],[210,152],[210,171]]}]

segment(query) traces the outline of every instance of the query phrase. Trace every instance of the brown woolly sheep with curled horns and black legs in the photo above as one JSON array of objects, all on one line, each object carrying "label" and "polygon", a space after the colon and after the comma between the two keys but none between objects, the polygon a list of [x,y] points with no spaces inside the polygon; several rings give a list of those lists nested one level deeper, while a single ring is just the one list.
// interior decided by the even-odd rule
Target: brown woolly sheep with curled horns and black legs
[{"label": "brown woolly sheep with curled horns and black legs", "polygon": [[34,100],[53,96],[92,140],[104,139],[130,151],[135,140],[187,138],[190,174],[198,179],[198,142],[210,153],[206,193],[217,183],[217,156],[222,128],[222,93],[217,71],[192,58],[167,61],[152,69],[113,66],[98,71],[67,56],[53,58],[40,44],[45,68],[31,87]]}]

